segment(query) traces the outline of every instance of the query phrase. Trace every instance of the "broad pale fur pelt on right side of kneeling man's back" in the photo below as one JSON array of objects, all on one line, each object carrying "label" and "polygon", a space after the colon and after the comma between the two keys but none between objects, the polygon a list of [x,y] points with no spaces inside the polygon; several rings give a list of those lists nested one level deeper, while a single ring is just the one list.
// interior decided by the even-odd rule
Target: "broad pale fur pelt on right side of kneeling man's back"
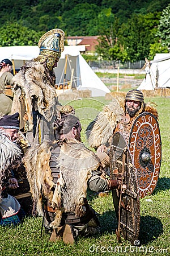
[{"label": "broad pale fur pelt on right side of kneeling man's back", "polygon": [[87,181],[91,172],[100,166],[100,159],[74,139],[63,142],[57,163],[60,172],[52,199],[56,208],[56,217],[51,223],[53,228],[59,226],[63,212],[74,213],[78,217],[86,214],[82,206],[87,196]]}]

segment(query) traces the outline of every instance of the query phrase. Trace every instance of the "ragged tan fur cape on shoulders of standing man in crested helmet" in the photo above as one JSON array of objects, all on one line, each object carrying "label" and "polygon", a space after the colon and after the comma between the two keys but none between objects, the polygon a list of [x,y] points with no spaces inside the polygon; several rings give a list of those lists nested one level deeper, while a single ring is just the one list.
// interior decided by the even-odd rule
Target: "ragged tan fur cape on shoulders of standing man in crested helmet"
[{"label": "ragged tan fur cape on shoulders of standing man in crested helmet", "polygon": [[[33,127],[32,120],[32,99],[36,97],[37,110],[47,121],[54,115],[54,105],[56,105],[56,90],[49,81],[50,73],[44,65],[35,61],[28,61],[22,69],[12,79],[14,83],[14,100],[11,114],[19,112],[20,119],[27,112],[29,129]],[[20,102],[24,96],[25,111]]]}]

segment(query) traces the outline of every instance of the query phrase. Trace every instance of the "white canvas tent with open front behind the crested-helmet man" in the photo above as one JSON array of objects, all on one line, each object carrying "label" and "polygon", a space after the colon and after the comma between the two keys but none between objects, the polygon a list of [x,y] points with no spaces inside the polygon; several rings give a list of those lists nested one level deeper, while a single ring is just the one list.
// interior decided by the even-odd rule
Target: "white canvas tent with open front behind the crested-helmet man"
[{"label": "white canvas tent with open front behind the crested-helmet man", "polygon": [[[73,81],[73,87],[79,90],[91,90],[92,97],[105,96],[110,90],[97,77],[80,54],[80,51],[84,50],[85,46],[65,46],[59,59],[58,67],[54,68],[57,77],[56,84]],[[0,47],[0,59],[12,60],[15,69],[19,69],[27,60],[31,60],[38,55],[39,47],[37,46]]]}]

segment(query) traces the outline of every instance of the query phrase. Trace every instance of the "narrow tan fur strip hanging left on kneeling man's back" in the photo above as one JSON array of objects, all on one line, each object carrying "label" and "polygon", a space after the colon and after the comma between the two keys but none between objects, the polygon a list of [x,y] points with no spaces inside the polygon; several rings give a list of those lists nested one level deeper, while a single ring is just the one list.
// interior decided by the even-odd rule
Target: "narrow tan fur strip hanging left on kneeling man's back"
[{"label": "narrow tan fur strip hanging left on kneeling man's back", "polygon": [[23,164],[27,172],[30,192],[33,199],[33,213],[43,216],[42,195],[52,199],[54,187],[53,177],[49,167],[52,143],[44,142],[28,148],[23,158]]}]

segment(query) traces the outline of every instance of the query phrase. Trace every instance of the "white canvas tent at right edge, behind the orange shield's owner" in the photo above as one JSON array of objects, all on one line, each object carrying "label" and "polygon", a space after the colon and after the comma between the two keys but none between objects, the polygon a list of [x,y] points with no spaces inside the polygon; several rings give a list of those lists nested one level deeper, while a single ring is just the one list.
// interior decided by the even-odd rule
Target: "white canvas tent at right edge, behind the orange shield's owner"
[{"label": "white canvas tent at right edge, behind the orange shield's owner", "polygon": [[170,53],[156,53],[154,60],[150,63],[150,70],[138,89],[154,90],[170,87]]}]

